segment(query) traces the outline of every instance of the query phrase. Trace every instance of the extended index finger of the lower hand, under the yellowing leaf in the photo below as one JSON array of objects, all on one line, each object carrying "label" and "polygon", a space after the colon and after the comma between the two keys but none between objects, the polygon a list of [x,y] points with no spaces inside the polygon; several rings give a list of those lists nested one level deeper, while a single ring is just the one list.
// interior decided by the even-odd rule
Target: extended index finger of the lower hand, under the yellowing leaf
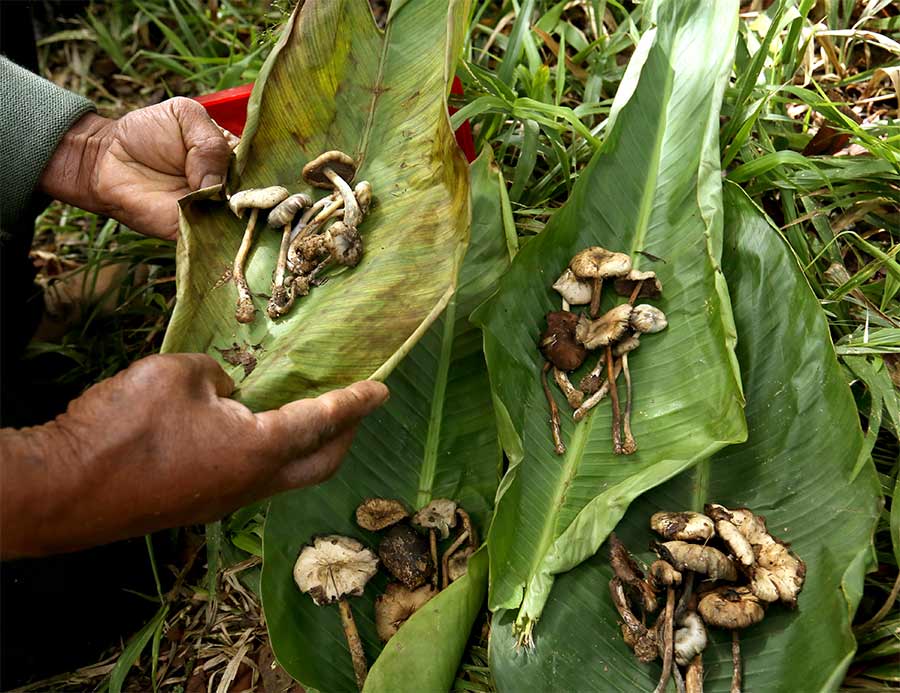
[{"label": "extended index finger of the lower hand, under the yellowing leaf", "polygon": [[388,389],[366,380],[315,399],[302,399],[257,415],[260,445],[287,462],[305,457],[381,406]]}]

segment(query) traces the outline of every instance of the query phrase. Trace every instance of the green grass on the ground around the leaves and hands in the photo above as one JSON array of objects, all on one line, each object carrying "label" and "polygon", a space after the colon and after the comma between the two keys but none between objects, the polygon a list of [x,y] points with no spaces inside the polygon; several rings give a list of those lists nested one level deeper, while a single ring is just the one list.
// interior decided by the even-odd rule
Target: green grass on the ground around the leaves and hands
[{"label": "green grass on the ground around the leaves and hands", "polygon": [[[890,2],[746,3],[737,77],[720,132],[727,176],[782,229],[826,311],[846,366],[886,499],[856,622],[859,651],[847,688],[896,687],[900,556],[900,120],[897,93],[879,68],[900,69],[900,13]],[[211,8],[218,7],[218,12]],[[539,233],[602,146],[612,97],[640,39],[646,4],[615,0],[474,0],[458,74],[476,146],[490,146],[509,188],[509,218],[523,241]],[[172,95],[255,77],[286,3],[131,0],[95,3],[41,41],[42,66],[115,115]],[[560,56],[566,56],[564,60]],[[853,110],[851,110],[853,109]],[[823,125],[845,147],[804,154]],[[36,245],[82,263],[151,266],[152,281],[124,286],[111,316],[89,314],[60,345],[85,386],[159,347],[174,297],[171,245],[115,222],[54,205]],[[255,546],[255,525],[235,530]],[[873,620],[876,617],[877,620]],[[456,690],[491,690],[483,642],[473,645]]]}]

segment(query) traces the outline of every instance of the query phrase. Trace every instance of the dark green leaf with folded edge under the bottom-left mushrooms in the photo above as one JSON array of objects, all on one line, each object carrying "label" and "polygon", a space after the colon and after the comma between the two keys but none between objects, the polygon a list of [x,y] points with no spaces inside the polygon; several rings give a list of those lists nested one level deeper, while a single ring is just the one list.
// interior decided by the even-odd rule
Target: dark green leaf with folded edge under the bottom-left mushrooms
[{"label": "dark green leaf with folded edge under the bottom-left mushrooms", "polygon": [[[353,521],[356,506],[370,496],[400,498],[414,508],[432,497],[455,498],[482,531],[489,522],[500,447],[481,334],[468,315],[509,264],[500,184],[485,150],[471,170],[472,241],[457,293],[387,379],[390,400],[360,425],[338,474],[321,486],[278,496],[269,507],[262,575],[266,622],[279,662],[307,686],[329,693],[356,688],[337,607],[315,606],[291,577],[303,544],[316,534],[340,533],[377,547],[377,535]],[[370,661],[382,647],[373,603],[384,585],[379,576],[351,603]],[[416,682],[407,690],[449,689],[486,589],[482,557],[469,579],[435,597],[391,640],[366,690],[397,690],[397,671],[405,672],[404,681]],[[428,659],[419,656],[423,649]]]}]

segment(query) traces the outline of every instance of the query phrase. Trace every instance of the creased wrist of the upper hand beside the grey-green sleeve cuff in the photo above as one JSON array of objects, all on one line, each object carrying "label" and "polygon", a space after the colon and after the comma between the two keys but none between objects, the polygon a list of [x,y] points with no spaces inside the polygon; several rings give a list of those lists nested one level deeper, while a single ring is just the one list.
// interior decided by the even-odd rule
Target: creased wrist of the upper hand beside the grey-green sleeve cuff
[{"label": "creased wrist of the upper hand beside the grey-green sleeve cuff", "polygon": [[97,165],[109,148],[115,121],[87,113],[69,128],[38,181],[41,192],[89,212],[105,213],[96,194]]}]

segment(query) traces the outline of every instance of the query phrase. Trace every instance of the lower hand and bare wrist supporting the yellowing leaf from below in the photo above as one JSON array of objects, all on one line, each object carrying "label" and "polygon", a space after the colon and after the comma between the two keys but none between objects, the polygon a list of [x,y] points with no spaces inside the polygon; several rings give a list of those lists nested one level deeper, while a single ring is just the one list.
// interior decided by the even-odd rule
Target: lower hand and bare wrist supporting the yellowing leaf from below
[{"label": "lower hand and bare wrist supporting the yellowing leaf from below", "polygon": [[364,381],[254,414],[233,387],[204,354],[150,356],[55,421],[0,431],[3,557],[208,522],[320,483],[388,394]]}]

